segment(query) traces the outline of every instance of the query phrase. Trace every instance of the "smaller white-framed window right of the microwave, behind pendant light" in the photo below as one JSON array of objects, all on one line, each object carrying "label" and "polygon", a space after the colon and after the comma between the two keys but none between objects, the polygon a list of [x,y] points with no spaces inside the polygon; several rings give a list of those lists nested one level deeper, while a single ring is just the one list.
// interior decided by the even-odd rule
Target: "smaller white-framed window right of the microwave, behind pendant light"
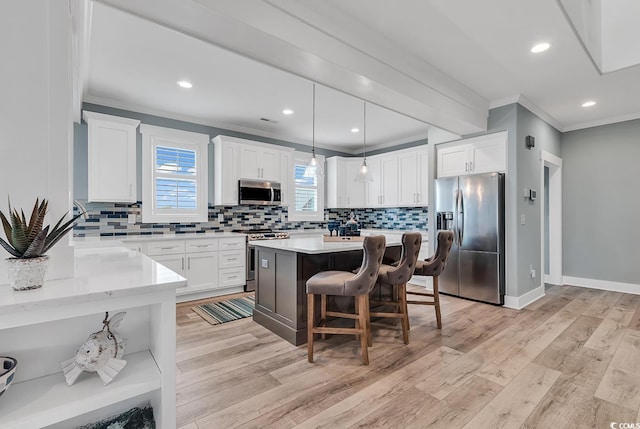
[{"label": "smaller white-framed window right of the microwave, behind pendant light", "polygon": [[310,154],[296,153],[293,162],[293,204],[289,206],[291,221],[324,220],[324,157],[318,158],[318,174],[305,177],[304,171],[311,159]]}]

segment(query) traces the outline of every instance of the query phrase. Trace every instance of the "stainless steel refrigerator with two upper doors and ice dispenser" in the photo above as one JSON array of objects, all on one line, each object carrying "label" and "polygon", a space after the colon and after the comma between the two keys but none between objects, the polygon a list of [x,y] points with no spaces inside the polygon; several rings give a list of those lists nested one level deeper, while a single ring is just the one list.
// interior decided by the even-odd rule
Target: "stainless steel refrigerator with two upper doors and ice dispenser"
[{"label": "stainless steel refrigerator with two upper doors and ice dispenser", "polygon": [[504,304],[504,174],[435,181],[436,228],[454,232],[440,292]]}]

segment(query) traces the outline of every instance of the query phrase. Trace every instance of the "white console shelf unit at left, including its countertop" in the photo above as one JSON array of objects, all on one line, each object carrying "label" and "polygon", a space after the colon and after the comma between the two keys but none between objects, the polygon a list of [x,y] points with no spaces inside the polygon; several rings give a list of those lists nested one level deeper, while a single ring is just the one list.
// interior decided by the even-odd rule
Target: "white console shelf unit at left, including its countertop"
[{"label": "white console shelf unit at left, including its countertop", "polygon": [[[18,360],[0,397],[0,428],[42,428],[99,420],[104,410],[153,406],[157,427],[175,428],[175,290],[183,277],[123,247],[76,250],[76,275],[35,291],[0,286],[0,355]],[[126,311],[123,370],[107,386],[96,374],[65,382],[72,357],[105,311]],[[101,412],[102,411],[102,412]]]}]

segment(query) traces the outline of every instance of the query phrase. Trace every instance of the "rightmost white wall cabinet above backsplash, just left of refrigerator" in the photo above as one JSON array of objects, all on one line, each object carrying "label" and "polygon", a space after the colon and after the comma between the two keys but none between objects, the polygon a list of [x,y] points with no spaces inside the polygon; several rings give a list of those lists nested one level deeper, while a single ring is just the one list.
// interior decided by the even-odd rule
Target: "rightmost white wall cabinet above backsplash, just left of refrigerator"
[{"label": "rightmost white wall cabinet above backsplash, just left of refrigerator", "polygon": [[429,154],[424,149],[398,151],[398,206],[426,206]]}]

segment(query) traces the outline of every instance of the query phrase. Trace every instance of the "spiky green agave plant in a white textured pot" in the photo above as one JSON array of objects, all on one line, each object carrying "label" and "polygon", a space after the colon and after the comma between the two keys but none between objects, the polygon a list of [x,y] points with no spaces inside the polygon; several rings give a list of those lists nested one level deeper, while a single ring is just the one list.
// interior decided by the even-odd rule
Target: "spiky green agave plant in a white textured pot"
[{"label": "spiky green agave plant in a white textured pot", "polygon": [[44,284],[49,257],[45,255],[66,233],[73,228],[73,222],[82,214],[64,222],[66,214],[53,228],[43,227],[47,214],[47,200],[36,199],[29,222],[24,211],[11,208],[9,217],[0,211],[2,226],[7,240],[0,238],[0,245],[13,257],[7,258],[9,280],[15,290],[37,289]]}]

